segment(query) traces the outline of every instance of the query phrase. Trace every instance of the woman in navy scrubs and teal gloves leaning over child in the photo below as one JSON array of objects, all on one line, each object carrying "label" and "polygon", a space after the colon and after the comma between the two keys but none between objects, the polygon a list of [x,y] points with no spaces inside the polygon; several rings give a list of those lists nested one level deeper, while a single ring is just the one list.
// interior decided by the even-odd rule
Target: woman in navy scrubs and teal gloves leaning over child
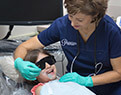
[{"label": "woman in navy scrubs and teal gloves leaning over child", "polygon": [[108,0],[65,0],[67,15],[17,47],[15,68],[35,80],[41,69],[23,61],[27,51],[60,41],[68,59],[60,82],[76,82],[97,95],[120,95],[121,30],[105,14],[107,6]]}]

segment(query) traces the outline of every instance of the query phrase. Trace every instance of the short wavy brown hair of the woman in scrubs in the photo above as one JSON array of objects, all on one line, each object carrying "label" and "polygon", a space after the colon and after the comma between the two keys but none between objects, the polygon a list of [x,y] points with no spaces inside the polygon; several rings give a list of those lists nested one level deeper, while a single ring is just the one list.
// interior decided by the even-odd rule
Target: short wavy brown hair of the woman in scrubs
[{"label": "short wavy brown hair of the woman in scrubs", "polygon": [[107,10],[108,0],[65,0],[65,8],[69,14],[83,13],[101,19]]}]

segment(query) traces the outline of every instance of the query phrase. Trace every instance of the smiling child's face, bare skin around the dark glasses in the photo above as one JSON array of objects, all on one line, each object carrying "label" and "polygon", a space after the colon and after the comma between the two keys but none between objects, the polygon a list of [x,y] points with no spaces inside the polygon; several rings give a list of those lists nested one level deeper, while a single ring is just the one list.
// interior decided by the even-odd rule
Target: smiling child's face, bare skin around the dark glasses
[{"label": "smiling child's face, bare skin around the dark glasses", "polygon": [[[47,57],[48,55],[45,54],[39,54],[38,60]],[[37,60],[37,61],[38,61]],[[51,80],[56,79],[56,66],[55,65],[49,65],[48,63],[45,64],[45,69],[43,69],[40,72],[40,75],[37,77],[37,80],[39,82],[45,83]]]}]

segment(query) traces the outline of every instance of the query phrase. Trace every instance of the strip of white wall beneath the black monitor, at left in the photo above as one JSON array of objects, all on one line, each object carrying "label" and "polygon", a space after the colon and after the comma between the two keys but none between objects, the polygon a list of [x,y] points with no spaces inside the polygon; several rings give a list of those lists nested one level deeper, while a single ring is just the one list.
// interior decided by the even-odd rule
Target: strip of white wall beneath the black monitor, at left
[{"label": "strip of white wall beneath the black monitor, at left", "polygon": [[[4,38],[5,35],[8,33],[8,31],[9,31],[8,25],[0,26],[0,39]],[[36,26],[14,26],[9,39],[26,36],[26,35],[31,36],[35,34],[37,34]]]}]

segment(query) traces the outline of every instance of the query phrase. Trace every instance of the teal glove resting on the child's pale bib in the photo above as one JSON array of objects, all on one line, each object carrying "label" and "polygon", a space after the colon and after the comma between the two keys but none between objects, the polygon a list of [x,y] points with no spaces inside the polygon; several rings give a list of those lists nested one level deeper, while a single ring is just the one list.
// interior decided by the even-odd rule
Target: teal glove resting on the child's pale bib
[{"label": "teal glove resting on the child's pale bib", "polygon": [[67,73],[62,76],[59,80],[60,82],[75,82],[83,86],[93,87],[93,81],[91,77],[83,77],[77,74],[76,72]]}]

